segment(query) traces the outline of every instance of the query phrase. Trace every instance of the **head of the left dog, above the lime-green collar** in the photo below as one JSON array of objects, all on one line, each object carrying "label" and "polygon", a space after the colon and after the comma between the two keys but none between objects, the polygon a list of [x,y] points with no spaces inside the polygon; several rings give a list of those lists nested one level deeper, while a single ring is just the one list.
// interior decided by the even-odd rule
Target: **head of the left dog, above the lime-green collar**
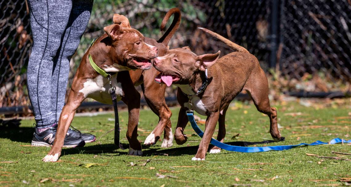
[{"label": "head of the left dog, above the lime-green collar", "polygon": [[151,59],[157,57],[157,47],[144,43],[138,30],[113,24],[104,27],[111,40],[111,53],[122,66],[130,69],[150,69]]}]

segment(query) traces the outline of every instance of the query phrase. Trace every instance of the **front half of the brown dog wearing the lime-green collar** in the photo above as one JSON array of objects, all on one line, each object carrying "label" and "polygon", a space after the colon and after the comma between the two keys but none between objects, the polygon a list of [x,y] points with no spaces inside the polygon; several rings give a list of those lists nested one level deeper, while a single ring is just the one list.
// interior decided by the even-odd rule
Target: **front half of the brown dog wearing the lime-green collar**
[{"label": "front half of the brown dog wearing the lime-green collar", "polygon": [[[101,103],[112,104],[111,96],[108,93],[110,88],[108,79],[93,69],[88,55],[91,55],[94,63],[105,72],[115,72],[111,77],[112,85],[116,89],[118,100],[126,103],[129,111],[127,140],[130,148],[128,154],[142,154],[141,144],[137,140],[140,94],[132,86],[129,73],[125,70],[150,69],[151,59],[157,57],[158,50],[155,46],[145,44],[143,34],[133,28],[113,24],[105,27],[104,31],[106,34],[95,41],[80,62],[67,104],[62,109],[59,118],[54,144],[43,159],[45,162],[58,160],[74,113],[85,98],[89,97]],[[117,80],[117,75],[120,74],[123,78]]]}]

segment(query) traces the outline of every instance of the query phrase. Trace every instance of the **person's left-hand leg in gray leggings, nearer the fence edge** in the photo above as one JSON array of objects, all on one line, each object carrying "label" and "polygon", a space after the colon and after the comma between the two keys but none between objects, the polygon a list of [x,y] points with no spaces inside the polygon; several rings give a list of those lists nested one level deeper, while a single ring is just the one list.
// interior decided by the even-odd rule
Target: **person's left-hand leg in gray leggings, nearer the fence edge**
[{"label": "person's left-hand leg in gray leggings, nearer the fence edge", "polygon": [[66,29],[71,0],[28,0],[33,47],[27,68],[28,95],[40,133],[55,123],[51,111],[53,58]]}]

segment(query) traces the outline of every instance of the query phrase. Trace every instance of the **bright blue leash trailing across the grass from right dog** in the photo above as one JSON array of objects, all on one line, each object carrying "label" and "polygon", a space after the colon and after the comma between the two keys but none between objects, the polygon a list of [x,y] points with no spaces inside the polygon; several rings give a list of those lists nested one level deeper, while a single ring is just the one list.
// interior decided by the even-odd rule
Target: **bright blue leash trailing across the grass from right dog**
[{"label": "bright blue leash trailing across the grass from right dog", "polygon": [[[193,110],[187,110],[186,115],[188,116],[189,122],[191,124],[191,127],[195,130],[195,132],[202,138],[204,135],[204,132],[198,127],[196,124],[196,121],[194,120],[194,111]],[[351,143],[351,140],[342,140],[340,138],[335,138],[331,140],[329,143],[327,142],[322,142],[322,141],[316,141],[313,143],[300,143],[297,145],[289,145],[289,146],[266,146],[266,147],[241,147],[241,146],[231,146],[225,143],[221,143],[215,139],[212,138],[211,144],[214,146],[217,146],[219,148],[229,150],[229,151],[236,151],[236,152],[241,152],[241,153],[254,153],[254,152],[265,152],[265,151],[270,151],[270,150],[275,150],[275,151],[281,151],[281,150],[287,150],[291,148],[295,148],[298,146],[317,146],[317,145],[322,145],[322,144],[336,144],[336,143]]]}]

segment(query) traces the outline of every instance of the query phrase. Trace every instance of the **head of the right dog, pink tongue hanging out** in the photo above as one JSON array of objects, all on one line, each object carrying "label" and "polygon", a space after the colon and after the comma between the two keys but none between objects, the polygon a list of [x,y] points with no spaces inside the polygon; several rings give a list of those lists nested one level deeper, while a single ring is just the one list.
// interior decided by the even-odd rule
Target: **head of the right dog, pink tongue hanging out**
[{"label": "head of the right dog, pink tongue hanging out", "polygon": [[167,86],[172,83],[189,84],[194,73],[211,67],[219,55],[220,51],[216,54],[197,55],[189,47],[168,50],[164,56],[154,59],[154,67],[161,72],[155,81]]}]

